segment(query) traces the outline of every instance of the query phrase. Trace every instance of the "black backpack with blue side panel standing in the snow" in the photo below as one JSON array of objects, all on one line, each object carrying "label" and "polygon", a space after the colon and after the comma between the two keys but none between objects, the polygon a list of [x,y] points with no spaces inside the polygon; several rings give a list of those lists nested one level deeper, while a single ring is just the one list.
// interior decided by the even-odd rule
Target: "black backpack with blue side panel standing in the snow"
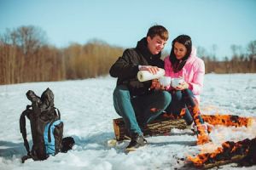
[{"label": "black backpack with blue side panel standing in the snow", "polygon": [[[38,97],[32,90],[27,91],[27,99],[32,105],[27,105],[26,110],[20,115],[20,133],[24,140],[27,156],[21,161],[32,158],[34,161],[45,160],[50,155],[55,156],[62,149],[63,122],[61,113],[54,106],[54,94],[47,88],[41,97]],[[26,117],[30,120],[32,132],[32,149],[30,150],[26,139]],[[71,137],[69,137],[71,138]],[[73,139],[73,138],[71,138]],[[69,139],[70,140],[70,139]],[[67,142],[66,142],[67,143]],[[74,141],[69,141],[69,149]],[[66,152],[67,152],[66,148]]]}]

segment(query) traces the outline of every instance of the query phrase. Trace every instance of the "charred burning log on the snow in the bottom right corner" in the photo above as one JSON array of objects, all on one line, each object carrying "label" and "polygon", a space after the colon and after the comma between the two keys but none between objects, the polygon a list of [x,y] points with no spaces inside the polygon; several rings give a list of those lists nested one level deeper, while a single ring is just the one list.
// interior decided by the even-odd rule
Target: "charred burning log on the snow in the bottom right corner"
[{"label": "charred burning log on the snow in the bottom right corner", "polygon": [[252,166],[256,164],[256,138],[236,143],[227,141],[212,153],[189,156],[188,160],[199,168],[217,167],[231,162],[236,162],[240,166]]}]

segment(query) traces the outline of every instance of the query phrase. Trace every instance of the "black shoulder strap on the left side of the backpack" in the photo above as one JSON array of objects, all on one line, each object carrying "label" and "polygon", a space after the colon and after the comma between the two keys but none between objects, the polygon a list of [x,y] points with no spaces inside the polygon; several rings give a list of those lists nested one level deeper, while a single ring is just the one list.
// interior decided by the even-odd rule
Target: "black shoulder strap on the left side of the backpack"
[{"label": "black shoulder strap on the left side of the backpack", "polygon": [[31,113],[29,108],[31,107],[31,105],[27,105],[26,106],[26,110],[23,111],[20,115],[20,133],[22,133],[22,137],[24,140],[24,146],[26,148],[27,151],[27,156],[30,156],[30,150],[29,150],[29,144],[28,141],[26,139],[26,117],[30,117],[29,114]]}]

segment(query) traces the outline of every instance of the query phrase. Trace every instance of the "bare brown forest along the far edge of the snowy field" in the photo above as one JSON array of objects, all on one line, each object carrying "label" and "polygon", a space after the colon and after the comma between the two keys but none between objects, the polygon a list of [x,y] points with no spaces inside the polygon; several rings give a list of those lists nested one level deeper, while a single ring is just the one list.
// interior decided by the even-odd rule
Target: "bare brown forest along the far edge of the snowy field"
[{"label": "bare brown forest along the far edge of the snowy field", "polygon": [[[72,43],[56,48],[45,39],[46,34],[35,26],[20,26],[0,34],[0,84],[51,82],[108,75],[113,62],[124,48],[91,40],[84,45]],[[256,40],[248,42],[246,51],[232,45],[231,58],[218,60],[214,50],[197,47],[204,60],[206,73],[255,73]],[[163,53],[166,56],[167,53]]]}]

